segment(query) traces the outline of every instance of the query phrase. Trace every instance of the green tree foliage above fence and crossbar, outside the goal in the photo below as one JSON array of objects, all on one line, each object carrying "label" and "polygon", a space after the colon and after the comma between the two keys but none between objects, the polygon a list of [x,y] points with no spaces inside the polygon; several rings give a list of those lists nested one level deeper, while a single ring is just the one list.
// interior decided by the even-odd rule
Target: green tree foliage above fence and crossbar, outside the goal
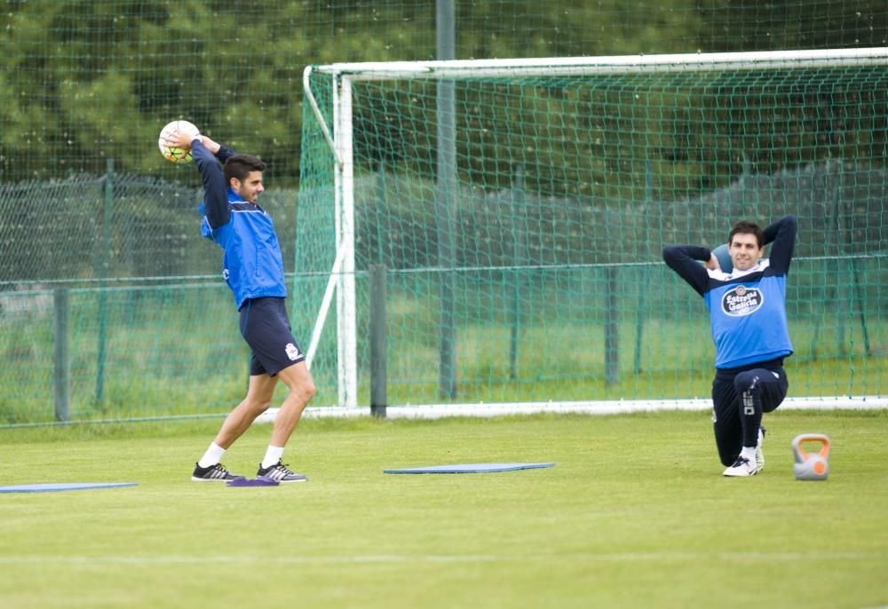
[{"label": "green tree foliage above fence and crossbar, outside the goal", "polygon": [[[262,154],[293,185],[306,65],[436,53],[434,6],[418,0],[6,4],[0,181],[99,174],[108,156],[119,170],[171,175],[152,142],[185,118]],[[877,46],[888,36],[877,0],[853,10],[844,1],[455,4],[457,59]]]}]

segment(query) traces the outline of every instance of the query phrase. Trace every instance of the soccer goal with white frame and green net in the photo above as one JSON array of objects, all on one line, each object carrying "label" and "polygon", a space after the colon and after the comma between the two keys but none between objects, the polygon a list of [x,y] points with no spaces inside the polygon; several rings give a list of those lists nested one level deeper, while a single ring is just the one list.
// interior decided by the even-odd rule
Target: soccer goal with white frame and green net
[{"label": "soccer goal with white frame and green net", "polygon": [[307,67],[293,318],[316,403],[384,383],[391,406],[466,413],[706,407],[708,315],[662,246],[792,213],[790,403],[885,407],[886,67],[886,48]]}]

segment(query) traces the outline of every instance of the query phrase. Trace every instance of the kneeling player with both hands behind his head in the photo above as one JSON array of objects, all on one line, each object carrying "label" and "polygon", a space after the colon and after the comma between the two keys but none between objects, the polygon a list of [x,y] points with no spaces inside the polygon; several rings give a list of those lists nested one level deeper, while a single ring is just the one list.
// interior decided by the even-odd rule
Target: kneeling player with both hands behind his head
[{"label": "kneeling player with both hands behind his head", "polygon": [[[796,244],[796,218],[763,231],[741,220],[728,237],[733,270],[722,271],[710,249],[670,245],[663,260],[691,284],[710,310],[716,345],[712,421],[725,476],[755,476],[765,467],[763,413],[786,397],[783,359],[792,354],[786,322],[786,276]],[[764,258],[772,243],[771,257]],[[703,263],[702,265],[700,263]]]}]

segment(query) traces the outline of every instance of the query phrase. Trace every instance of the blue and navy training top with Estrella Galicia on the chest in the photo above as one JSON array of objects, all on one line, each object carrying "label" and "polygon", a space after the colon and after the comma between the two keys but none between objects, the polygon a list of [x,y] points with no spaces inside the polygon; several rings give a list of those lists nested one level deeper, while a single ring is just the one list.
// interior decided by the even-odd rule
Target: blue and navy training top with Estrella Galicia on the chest
[{"label": "blue and navy training top with Estrella Galicia on the chest", "polygon": [[740,368],[782,359],[792,353],[786,320],[786,276],[796,243],[796,218],[786,216],[765,228],[771,257],[748,271],[710,271],[700,261],[710,249],[673,245],[663,259],[706,301],[710,311],[716,368]]}]

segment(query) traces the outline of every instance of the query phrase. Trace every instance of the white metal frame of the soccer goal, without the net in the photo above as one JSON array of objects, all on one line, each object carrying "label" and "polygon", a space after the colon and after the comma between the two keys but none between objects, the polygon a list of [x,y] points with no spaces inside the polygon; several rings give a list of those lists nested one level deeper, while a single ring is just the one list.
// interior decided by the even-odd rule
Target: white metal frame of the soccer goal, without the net
[{"label": "white metal frame of the soccer goal, without the net", "polygon": [[[335,294],[337,306],[337,406],[358,408],[359,357],[358,328],[356,323],[357,305],[355,294],[355,178],[353,159],[353,83],[359,81],[389,80],[465,80],[472,78],[491,78],[499,75],[599,75],[599,74],[632,74],[644,72],[701,72],[707,70],[744,70],[768,67],[786,69],[800,67],[844,67],[844,66],[886,66],[888,67],[888,47],[864,49],[811,50],[811,51],[757,51],[757,52],[725,52],[725,53],[691,53],[664,54],[650,56],[611,56],[611,57],[574,57],[546,59],[484,59],[484,60],[451,60],[451,61],[394,61],[367,63],[334,63],[322,66],[305,67],[303,86],[313,114],[323,130],[324,138],[329,145],[329,152],[336,162],[334,178],[334,218],[336,231],[336,257],[330,269],[327,289],[321,302],[316,320],[313,324],[311,343],[307,350],[307,363],[311,367],[317,346],[321,340],[322,328],[332,305]],[[323,75],[329,77],[332,91],[331,122],[328,124],[324,113],[312,91],[313,78]],[[851,402],[841,398],[841,404],[852,403],[853,407],[888,407],[888,398],[881,396],[860,396]],[[796,407],[815,407],[822,403],[830,407],[830,400],[836,404],[836,398],[824,398],[820,401],[811,398],[788,399],[788,403],[797,402]],[[651,409],[652,407],[699,407],[697,399],[669,400],[668,405],[659,400],[620,400],[616,406],[625,410]],[[600,407],[600,402],[553,402],[551,406],[558,409],[573,406],[574,410],[586,412],[607,410]],[[397,406],[397,405],[395,405]],[[451,404],[454,412],[461,412],[472,404]],[[432,406],[446,408],[446,406]],[[491,405],[485,405],[490,410]],[[511,408],[511,410],[510,410]],[[503,412],[521,412],[527,405],[503,404]],[[496,409],[496,408],[495,408]],[[438,410],[440,412],[440,410]]]}]

